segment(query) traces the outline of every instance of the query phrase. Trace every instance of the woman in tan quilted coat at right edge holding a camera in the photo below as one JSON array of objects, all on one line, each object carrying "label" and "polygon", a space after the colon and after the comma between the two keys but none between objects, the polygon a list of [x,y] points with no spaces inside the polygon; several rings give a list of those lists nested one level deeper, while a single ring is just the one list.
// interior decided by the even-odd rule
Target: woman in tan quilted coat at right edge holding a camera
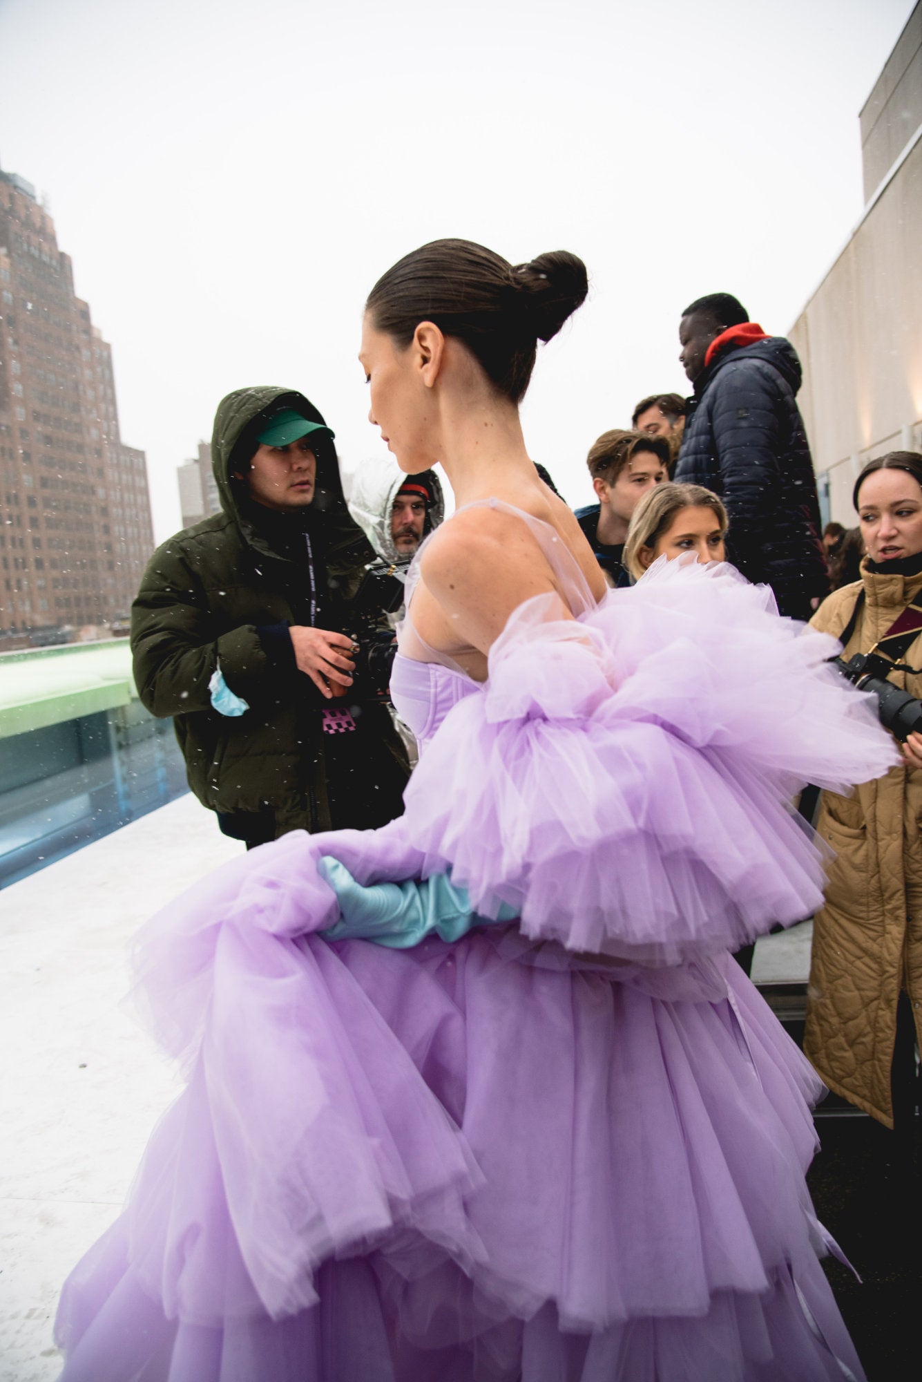
[{"label": "woman in tan quilted coat at right edge holding a camera", "polygon": [[[810,623],[842,634],[864,600],[845,656],[868,652],[922,593],[922,456],[890,452],[854,486],[867,556],[861,580]],[[904,655],[922,668],[922,634]],[[922,697],[922,674],[890,681]],[[914,1036],[922,1034],[922,735],[903,761],[849,797],[824,792],[818,831],[835,850],[813,930],[805,1052],[830,1089],[887,1128],[911,1121]]]}]

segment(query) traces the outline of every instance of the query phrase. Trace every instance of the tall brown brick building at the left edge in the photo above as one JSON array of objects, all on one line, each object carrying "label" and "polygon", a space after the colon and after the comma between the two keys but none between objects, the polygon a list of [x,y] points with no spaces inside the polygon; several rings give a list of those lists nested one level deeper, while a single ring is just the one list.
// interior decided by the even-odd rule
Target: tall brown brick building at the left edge
[{"label": "tall brown brick building at the left edge", "polygon": [[124,618],[152,550],[112,350],[35,188],[0,170],[0,647]]}]

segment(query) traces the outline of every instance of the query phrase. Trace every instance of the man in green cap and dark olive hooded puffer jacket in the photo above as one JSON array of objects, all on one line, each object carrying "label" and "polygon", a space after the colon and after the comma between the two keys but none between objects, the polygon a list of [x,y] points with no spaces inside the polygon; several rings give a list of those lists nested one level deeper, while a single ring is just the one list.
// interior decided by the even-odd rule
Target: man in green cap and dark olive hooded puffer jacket
[{"label": "man in green cap and dark olive hooded puffer jacket", "polygon": [[189,786],[247,847],[384,825],[409,763],[370,673],[388,625],[333,433],[304,394],[242,388],[211,457],[222,511],[157,549],[133,605],[141,701],[174,717]]}]

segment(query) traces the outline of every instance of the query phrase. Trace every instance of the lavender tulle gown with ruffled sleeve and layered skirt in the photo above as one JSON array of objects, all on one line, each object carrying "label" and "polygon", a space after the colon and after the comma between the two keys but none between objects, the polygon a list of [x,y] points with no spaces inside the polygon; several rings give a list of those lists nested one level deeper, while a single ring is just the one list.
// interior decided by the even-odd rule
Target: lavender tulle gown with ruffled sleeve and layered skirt
[{"label": "lavender tulle gown with ruffled sleeve and layered skirt", "polygon": [[[142,930],[188,1088],[63,1288],[63,1382],[863,1376],[803,1180],[823,1086],[727,949],[820,900],[792,792],[893,750],[832,640],[727,568],[596,605],[509,511],[577,622],[529,601],[478,685],[407,621],[406,814],[287,835]],[[326,940],[322,855],[520,920]]]}]

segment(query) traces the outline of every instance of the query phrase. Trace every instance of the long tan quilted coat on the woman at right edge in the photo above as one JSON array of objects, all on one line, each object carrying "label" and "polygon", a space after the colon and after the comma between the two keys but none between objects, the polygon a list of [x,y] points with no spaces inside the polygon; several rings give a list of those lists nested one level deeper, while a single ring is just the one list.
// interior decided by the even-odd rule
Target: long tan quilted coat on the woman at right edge
[{"label": "long tan quilted coat on the woman at right edge", "polygon": [[[876,575],[824,600],[810,621],[841,634],[864,585],[846,655],[867,652],[922,589],[915,576]],[[922,636],[905,661],[922,666]],[[890,677],[922,697],[922,676]],[[830,1089],[893,1126],[890,1064],[900,988],[922,1038],[922,771],[894,767],[849,797],[824,792],[817,826],[836,858],[816,916],[803,1049]]]}]

